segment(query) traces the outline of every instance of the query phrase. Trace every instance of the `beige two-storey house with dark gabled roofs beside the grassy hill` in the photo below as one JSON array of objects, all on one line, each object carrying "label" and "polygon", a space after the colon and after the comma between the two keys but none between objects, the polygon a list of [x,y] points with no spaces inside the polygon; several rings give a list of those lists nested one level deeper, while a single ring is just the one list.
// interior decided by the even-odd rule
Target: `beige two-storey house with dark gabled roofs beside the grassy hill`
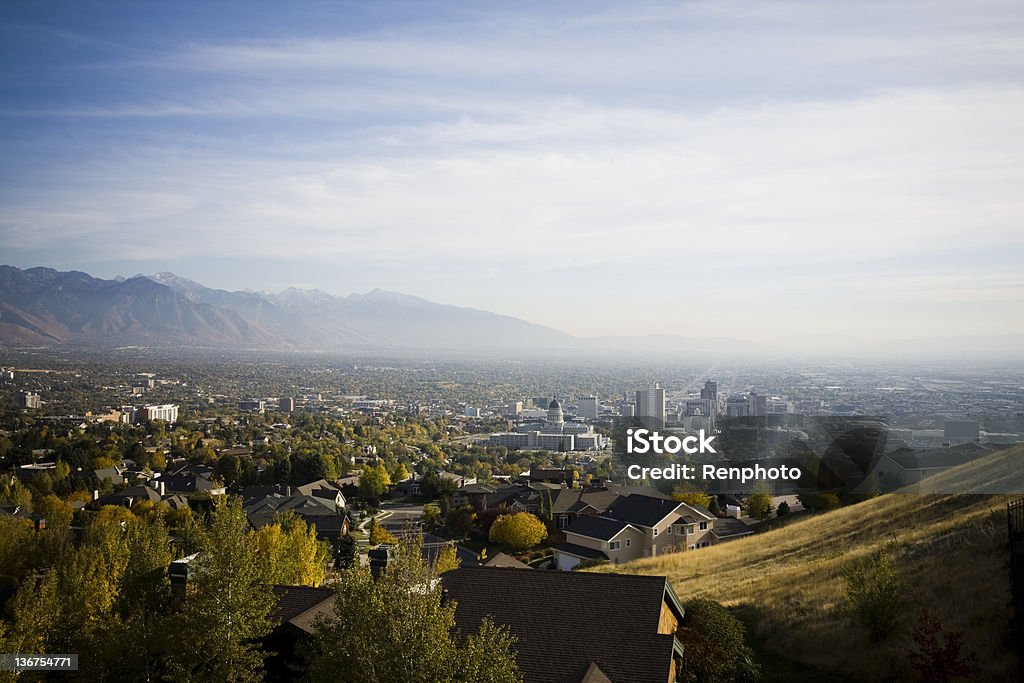
[{"label": "beige two-storey house with dark gabled roofs beside the grassy hill", "polygon": [[715,543],[716,518],[709,511],[674,500],[632,494],[599,516],[583,515],[563,529],[555,546],[555,566],[572,569],[586,560],[618,564]]}]

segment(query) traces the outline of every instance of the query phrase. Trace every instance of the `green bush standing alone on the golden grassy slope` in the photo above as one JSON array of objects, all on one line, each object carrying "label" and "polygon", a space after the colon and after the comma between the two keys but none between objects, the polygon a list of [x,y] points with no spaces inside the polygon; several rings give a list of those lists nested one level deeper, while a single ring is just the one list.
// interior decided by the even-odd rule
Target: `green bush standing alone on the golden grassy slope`
[{"label": "green bush standing alone on the golden grassy slope", "polygon": [[868,630],[872,640],[892,635],[903,613],[904,587],[888,550],[848,562],[843,580],[854,621]]}]

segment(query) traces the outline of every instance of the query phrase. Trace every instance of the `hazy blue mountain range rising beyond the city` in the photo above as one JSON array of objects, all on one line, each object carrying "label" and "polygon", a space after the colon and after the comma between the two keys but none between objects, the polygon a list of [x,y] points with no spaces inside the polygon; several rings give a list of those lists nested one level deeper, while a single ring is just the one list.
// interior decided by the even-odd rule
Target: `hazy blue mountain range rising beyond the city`
[{"label": "hazy blue mountain range rising beyond the city", "polygon": [[227,292],[171,272],[101,280],[0,266],[0,342],[365,350],[564,348],[525,321],[374,290]]}]

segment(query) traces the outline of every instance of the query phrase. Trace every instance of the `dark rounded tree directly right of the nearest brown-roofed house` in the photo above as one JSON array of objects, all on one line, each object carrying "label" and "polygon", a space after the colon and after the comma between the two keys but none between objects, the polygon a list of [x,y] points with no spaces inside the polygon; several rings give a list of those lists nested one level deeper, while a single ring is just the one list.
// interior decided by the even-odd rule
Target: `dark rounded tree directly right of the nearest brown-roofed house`
[{"label": "dark rounded tree directly right of the nearest brown-roofed house", "polygon": [[686,681],[756,681],[760,671],[744,642],[743,624],[714,600],[685,603],[676,634],[683,644]]}]

